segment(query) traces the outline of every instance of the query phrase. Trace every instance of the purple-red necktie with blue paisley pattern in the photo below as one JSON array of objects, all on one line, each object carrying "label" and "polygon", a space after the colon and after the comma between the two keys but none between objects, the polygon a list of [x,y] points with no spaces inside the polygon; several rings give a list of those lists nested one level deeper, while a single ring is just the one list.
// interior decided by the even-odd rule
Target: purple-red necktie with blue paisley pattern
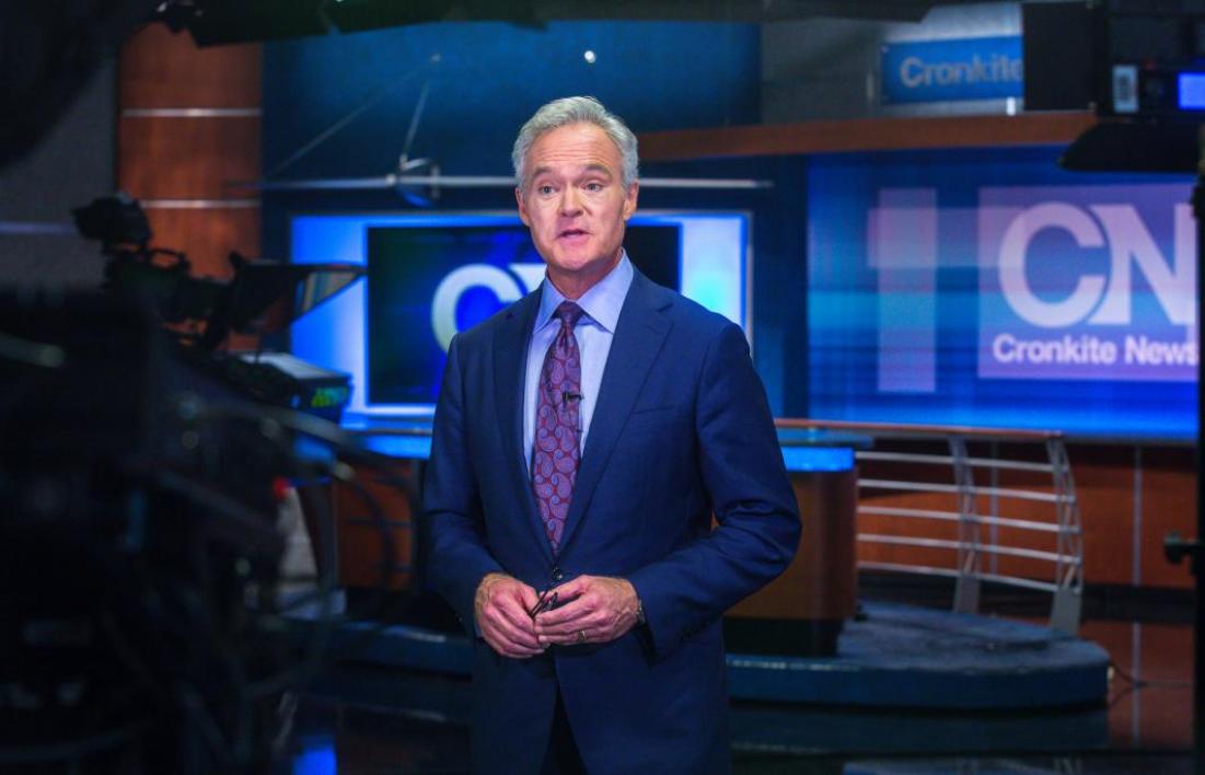
[{"label": "purple-red necktie with blue paisley pattern", "polygon": [[531,491],[552,551],[560,546],[565,515],[577,477],[581,429],[582,362],[574,325],[582,307],[562,301],[552,313],[560,330],[552,340],[540,369],[540,398],[535,410],[535,442],[531,445]]}]

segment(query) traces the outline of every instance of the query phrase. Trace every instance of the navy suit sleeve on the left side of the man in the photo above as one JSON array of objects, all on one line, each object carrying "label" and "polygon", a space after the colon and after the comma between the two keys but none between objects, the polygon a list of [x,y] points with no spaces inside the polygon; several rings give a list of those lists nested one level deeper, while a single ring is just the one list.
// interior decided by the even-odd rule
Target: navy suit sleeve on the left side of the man
[{"label": "navy suit sleeve on the left side of the man", "polygon": [[502,568],[486,544],[477,476],[469,456],[458,339],[448,348],[435,407],[423,518],[429,536],[428,583],[452,605],[471,635],[477,585],[486,574]]}]

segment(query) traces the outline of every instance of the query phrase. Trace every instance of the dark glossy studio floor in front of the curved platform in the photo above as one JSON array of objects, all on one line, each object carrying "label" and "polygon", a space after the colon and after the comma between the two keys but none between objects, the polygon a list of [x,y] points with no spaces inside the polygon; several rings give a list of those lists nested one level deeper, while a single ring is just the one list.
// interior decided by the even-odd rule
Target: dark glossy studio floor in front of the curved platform
[{"label": "dark glossy studio floor in front of the curved platform", "polygon": [[[734,701],[734,771],[1195,771],[1191,610],[1170,616],[1163,610],[1159,621],[1151,621],[1144,606],[1130,607],[1125,617],[1089,613],[1081,627],[1081,635],[1104,647],[1112,663],[1104,704],[950,714]],[[331,664],[298,695],[292,747],[280,771],[466,773],[469,691],[459,677]],[[831,734],[818,735],[821,742],[811,734],[799,745],[793,733],[805,726]]]}]

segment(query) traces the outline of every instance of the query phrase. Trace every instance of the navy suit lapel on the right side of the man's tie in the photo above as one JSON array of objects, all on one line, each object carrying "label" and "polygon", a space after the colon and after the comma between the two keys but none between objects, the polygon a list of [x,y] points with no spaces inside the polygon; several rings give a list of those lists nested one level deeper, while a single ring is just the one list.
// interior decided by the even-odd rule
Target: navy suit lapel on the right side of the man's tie
[{"label": "navy suit lapel on the right side of the man's tie", "polygon": [[[589,509],[607,460],[615,450],[619,431],[640,395],[648,371],[657,360],[672,324],[660,310],[672,304],[671,297],[660,293],[639,271],[631,278],[628,298],[624,299],[619,322],[615,327],[615,339],[607,353],[602,382],[599,386],[599,403],[590,418],[590,430],[586,436],[586,448],[574,482],[574,500],[565,517],[562,536],[562,553],[569,547],[574,532]],[[533,499],[534,500],[534,499]]]}]

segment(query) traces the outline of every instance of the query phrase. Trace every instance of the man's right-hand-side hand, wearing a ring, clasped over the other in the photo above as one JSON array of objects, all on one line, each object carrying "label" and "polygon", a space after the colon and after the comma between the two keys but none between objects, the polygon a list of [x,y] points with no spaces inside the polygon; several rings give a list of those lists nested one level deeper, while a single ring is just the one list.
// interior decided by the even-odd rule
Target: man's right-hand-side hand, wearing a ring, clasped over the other
[{"label": "man's right-hand-side hand, wearing a ring, clasped over the other", "polygon": [[605,644],[636,624],[640,599],[627,579],[578,576],[554,592],[569,603],[535,617],[535,633],[545,646]]}]

